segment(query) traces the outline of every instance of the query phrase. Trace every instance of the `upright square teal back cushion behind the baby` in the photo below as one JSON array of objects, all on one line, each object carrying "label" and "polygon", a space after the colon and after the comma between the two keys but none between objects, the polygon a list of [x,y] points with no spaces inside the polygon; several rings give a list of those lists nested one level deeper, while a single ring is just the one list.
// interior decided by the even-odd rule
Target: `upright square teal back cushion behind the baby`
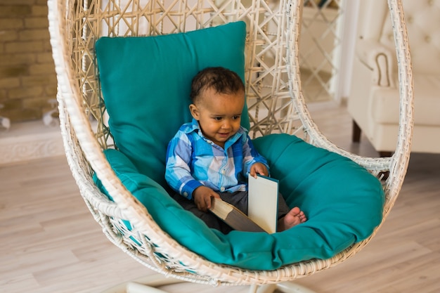
[{"label": "upright square teal back cushion behind the baby", "polygon": [[[190,83],[205,67],[245,77],[245,22],[156,37],[96,41],[99,77],[117,148],[165,186],[167,143],[190,122]],[[247,109],[242,125],[249,128]]]}]

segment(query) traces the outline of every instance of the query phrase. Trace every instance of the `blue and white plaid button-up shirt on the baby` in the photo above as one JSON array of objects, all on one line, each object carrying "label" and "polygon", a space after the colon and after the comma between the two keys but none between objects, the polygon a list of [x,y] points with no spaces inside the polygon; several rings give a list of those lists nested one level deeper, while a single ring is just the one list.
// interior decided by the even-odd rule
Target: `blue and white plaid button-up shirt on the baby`
[{"label": "blue and white plaid button-up shirt on the baby", "polygon": [[184,197],[193,198],[195,188],[205,185],[219,192],[247,190],[250,167],[267,161],[254,149],[247,131],[240,130],[221,148],[205,138],[198,122],[183,124],[169,142],[165,179]]}]

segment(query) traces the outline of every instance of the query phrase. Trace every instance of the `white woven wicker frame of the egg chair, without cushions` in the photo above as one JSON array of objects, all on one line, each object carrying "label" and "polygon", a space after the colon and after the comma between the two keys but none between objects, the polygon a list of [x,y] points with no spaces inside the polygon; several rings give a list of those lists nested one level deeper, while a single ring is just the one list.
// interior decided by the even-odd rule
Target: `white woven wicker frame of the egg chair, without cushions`
[{"label": "white woven wicker frame of the egg chair, without cushions", "polygon": [[[249,271],[212,263],[181,247],[157,226],[145,207],[124,188],[103,155],[102,150],[111,146],[111,134],[103,118],[105,108],[98,87],[94,44],[101,35],[167,34],[245,20],[250,32],[246,48],[246,84],[251,134],[295,134],[313,145],[353,159],[375,176],[389,171],[383,184],[386,219],[406,174],[413,124],[413,81],[401,2],[389,0],[399,60],[401,115],[396,152],[388,158],[360,157],[342,150],[328,141],[313,123],[302,96],[297,60],[302,1],[122,2],[48,0],[51,45],[58,75],[60,124],[67,161],[86,205],[108,239],[143,265],[167,277],[209,285],[252,285],[254,289],[257,285],[273,286],[311,275],[359,252],[379,227],[367,240],[352,245],[331,259],[292,263],[274,271]],[[96,120],[97,126],[94,124]],[[115,202],[110,202],[96,188],[92,180],[95,172]],[[136,223],[136,231],[131,233],[148,235],[149,242],[139,245],[129,239],[129,231],[124,236],[116,233],[118,223],[112,218]],[[163,284],[162,279],[151,280],[153,285]],[[287,283],[278,289],[298,292],[299,288]]]}]

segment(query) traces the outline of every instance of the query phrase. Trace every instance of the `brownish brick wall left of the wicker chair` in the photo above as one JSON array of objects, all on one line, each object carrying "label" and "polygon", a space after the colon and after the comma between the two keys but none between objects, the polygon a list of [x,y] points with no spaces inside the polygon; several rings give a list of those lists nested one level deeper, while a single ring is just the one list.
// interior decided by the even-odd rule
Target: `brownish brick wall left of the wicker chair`
[{"label": "brownish brick wall left of the wicker chair", "polygon": [[0,115],[41,119],[56,98],[46,0],[0,0]]}]

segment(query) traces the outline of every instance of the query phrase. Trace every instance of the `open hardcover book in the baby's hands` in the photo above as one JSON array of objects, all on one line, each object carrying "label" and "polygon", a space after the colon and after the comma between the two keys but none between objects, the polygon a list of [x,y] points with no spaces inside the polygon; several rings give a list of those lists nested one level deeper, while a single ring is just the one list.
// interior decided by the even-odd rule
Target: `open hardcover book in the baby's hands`
[{"label": "open hardcover book in the baby's hands", "polygon": [[278,181],[265,176],[249,176],[248,216],[232,204],[212,198],[210,209],[235,230],[276,232],[278,218]]}]

